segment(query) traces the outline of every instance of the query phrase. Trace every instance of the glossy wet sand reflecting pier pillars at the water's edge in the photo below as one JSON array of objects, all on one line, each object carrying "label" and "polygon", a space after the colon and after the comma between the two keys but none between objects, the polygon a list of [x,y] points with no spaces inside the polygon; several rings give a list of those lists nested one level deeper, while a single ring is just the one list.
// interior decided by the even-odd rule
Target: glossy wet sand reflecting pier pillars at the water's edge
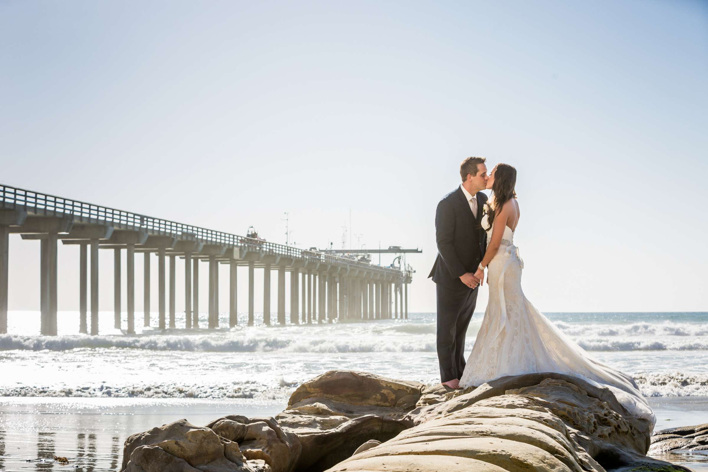
[{"label": "glossy wet sand reflecting pier pillars at the water's edge", "polygon": [[[708,422],[708,397],[649,398],[656,429]],[[270,416],[281,401],[198,398],[0,398],[0,470],[118,471],[123,442],[136,432],[186,418],[205,425],[223,415]],[[64,456],[69,464],[59,464]],[[708,471],[708,454],[661,459]]]}]

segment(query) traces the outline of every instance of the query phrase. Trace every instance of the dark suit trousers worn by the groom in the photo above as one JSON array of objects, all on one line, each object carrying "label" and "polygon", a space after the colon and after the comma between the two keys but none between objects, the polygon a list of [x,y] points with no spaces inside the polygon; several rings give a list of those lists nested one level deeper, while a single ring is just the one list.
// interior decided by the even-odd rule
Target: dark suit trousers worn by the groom
[{"label": "dark suit trousers worn by the groom", "polygon": [[440,381],[459,379],[464,372],[464,338],[477,303],[475,289],[451,289],[435,284],[438,295],[438,362]]}]

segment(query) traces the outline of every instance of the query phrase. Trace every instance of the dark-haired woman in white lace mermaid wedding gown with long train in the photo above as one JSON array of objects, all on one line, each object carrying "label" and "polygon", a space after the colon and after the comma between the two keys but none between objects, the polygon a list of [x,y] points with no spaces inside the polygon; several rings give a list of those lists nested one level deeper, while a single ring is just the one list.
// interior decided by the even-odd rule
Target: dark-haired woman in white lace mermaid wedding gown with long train
[{"label": "dark-haired woman in white lace mermaid wedding gown with long train", "polygon": [[590,359],[524,297],[523,261],[514,246],[520,216],[515,185],[516,169],[508,164],[498,164],[489,175],[486,188],[492,196],[481,219],[488,243],[474,274],[484,280],[489,269],[489,303],[459,386],[532,372],[569,374],[610,388],[629,413],[656,422],[631,376]]}]

